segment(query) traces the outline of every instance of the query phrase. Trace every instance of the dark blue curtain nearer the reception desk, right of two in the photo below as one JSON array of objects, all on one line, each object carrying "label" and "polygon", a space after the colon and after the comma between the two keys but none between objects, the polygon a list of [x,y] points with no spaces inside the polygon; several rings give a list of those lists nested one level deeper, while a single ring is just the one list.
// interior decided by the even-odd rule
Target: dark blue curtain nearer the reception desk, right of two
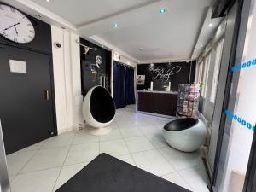
[{"label": "dark blue curtain nearer the reception desk, right of two", "polygon": [[135,104],[134,69],[131,67],[126,67],[125,70],[125,104]]}]

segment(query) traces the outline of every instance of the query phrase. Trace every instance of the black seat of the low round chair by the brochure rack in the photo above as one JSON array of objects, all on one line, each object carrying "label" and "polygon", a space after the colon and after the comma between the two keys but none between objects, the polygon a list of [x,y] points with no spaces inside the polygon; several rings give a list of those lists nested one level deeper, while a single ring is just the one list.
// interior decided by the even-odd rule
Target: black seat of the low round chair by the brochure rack
[{"label": "black seat of the low round chair by the brochure rack", "polygon": [[167,123],[164,129],[166,131],[183,131],[196,125],[198,122],[199,120],[195,118],[177,119],[177,120],[171,121],[170,123]]}]

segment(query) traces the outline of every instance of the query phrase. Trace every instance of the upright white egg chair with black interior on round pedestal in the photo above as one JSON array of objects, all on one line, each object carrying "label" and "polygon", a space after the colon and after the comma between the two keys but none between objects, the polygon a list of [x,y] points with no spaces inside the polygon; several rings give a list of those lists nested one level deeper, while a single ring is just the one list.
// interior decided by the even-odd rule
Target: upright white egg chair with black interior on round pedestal
[{"label": "upright white egg chair with black interior on round pedestal", "polygon": [[91,88],[83,102],[83,116],[90,125],[91,135],[105,135],[111,131],[110,125],[115,115],[115,104],[112,96],[102,86]]}]

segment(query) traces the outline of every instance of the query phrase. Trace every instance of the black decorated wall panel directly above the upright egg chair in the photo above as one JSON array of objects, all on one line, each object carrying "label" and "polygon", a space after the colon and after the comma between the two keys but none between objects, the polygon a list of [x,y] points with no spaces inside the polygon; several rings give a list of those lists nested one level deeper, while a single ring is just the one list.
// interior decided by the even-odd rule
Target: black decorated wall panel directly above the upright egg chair
[{"label": "black decorated wall panel directly above the upright egg chair", "polygon": [[[96,50],[90,50],[87,55],[84,54],[84,47],[80,46],[81,54],[81,81],[82,81],[82,94],[86,95],[91,87],[99,84],[98,77],[102,74],[108,75],[108,91],[110,91],[110,79],[111,79],[111,51],[102,49],[101,47],[93,44],[84,38],[80,38],[80,43],[87,45]],[[97,74],[92,74],[90,71],[90,64],[96,64],[96,55],[102,56],[102,65],[100,69],[97,69]]]}]

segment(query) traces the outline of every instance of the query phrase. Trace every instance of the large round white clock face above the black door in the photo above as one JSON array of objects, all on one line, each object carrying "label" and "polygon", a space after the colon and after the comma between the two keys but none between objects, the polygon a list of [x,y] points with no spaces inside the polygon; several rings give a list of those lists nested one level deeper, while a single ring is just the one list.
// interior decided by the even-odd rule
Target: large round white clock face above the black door
[{"label": "large round white clock face above the black door", "polygon": [[0,34],[16,43],[26,44],[35,38],[35,29],[26,15],[0,3]]}]

